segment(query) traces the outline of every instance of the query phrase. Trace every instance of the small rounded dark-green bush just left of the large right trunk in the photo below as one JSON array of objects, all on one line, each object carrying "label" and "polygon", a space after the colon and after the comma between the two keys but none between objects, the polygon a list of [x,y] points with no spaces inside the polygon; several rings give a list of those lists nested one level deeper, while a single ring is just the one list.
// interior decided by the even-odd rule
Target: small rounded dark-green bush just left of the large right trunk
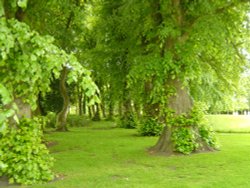
[{"label": "small rounded dark-green bush just left of the large right trunk", "polygon": [[154,118],[146,118],[139,127],[138,132],[142,136],[159,136],[163,130],[164,124],[159,123]]}]

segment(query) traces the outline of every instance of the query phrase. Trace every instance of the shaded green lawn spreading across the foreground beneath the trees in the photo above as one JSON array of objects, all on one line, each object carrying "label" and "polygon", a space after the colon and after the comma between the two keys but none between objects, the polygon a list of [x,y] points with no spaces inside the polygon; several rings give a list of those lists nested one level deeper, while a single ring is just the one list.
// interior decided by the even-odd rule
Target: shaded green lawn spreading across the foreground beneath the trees
[{"label": "shaded green lawn spreading across the foreground beneath the trees", "polygon": [[250,134],[218,134],[221,151],[189,156],[152,156],[157,137],[94,122],[47,139],[54,170],[63,179],[32,188],[234,188],[250,187]]}]

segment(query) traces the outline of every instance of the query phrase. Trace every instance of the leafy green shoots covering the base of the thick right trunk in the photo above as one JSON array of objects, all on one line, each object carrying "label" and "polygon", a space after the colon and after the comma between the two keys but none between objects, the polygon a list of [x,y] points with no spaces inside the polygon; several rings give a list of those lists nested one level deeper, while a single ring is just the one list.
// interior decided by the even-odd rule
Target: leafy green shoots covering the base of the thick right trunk
[{"label": "leafy green shoots covering the base of the thick right trunk", "polygon": [[176,152],[190,154],[204,148],[218,148],[215,134],[207,124],[199,105],[196,105],[190,114],[172,116],[167,126],[172,129],[171,141]]}]

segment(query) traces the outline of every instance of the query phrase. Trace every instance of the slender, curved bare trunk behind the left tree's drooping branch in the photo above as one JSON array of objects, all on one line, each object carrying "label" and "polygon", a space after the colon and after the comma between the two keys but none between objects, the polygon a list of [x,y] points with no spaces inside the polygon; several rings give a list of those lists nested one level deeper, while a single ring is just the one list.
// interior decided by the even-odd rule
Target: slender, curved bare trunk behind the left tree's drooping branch
[{"label": "slender, curved bare trunk behind the left tree's drooping branch", "polygon": [[63,108],[62,110],[57,114],[56,118],[56,127],[58,131],[68,131],[67,129],[67,115],[68,115],[68,109],[69,109],[69,96],[67,93],[66,88],[66,78],[68,75],[68,69],[66,67],[63,67],[63,70],[61,71],[60,75],[60,93],[63,97]]}]

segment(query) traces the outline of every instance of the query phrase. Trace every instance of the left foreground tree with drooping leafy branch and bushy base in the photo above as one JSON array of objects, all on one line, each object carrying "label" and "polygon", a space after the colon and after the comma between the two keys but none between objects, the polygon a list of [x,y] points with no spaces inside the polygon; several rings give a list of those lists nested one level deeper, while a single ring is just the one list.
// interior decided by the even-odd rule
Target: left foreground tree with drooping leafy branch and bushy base
[{"label": "left foreground tree with drooping leafy branch and bushy base", "polygon": [[34,184],[53,179],[52,159],[41,143],[41,124],[31,119],[39,94],[49,90],[52,75],[59,78],[66,66],[72,69],[68,83],[81,77],[80,86],[91,103],[98,101],[98,89],[73,54],[58,48],[51,36],[41,36],[20,22],[25,8],[27,1],[0,1],[0,176],[12,183]]}]

